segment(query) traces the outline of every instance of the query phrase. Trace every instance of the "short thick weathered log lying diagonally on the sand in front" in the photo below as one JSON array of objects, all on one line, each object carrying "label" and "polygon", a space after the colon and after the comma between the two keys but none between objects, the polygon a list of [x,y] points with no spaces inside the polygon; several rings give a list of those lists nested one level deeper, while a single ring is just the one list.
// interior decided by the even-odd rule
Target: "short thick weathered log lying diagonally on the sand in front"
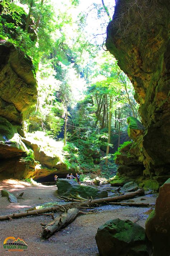
[{"label": "short thick weathered log lying diagonally on the sand in front", "polygon": [[53,221],[46,225],[41,234],[41,237],[47,239],[60,229],[65,228],[65,226],[69,225],[72,221],[75,220],[78,213],[79,210],[77,208],[72,208],[69,209],[67,212],[61,214],[60,216],[56,217]]}]

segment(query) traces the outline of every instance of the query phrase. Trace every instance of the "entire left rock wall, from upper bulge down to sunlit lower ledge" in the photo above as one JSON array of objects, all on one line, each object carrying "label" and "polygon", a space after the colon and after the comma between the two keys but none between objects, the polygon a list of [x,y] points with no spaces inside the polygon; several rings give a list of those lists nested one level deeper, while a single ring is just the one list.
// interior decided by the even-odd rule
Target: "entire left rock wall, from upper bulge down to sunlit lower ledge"
[{"label": "entire left rock wall, from upper bulge down to sunlit lower ledge", "polygon": [[23,138],[22,122],[37,103],[32,60],[7,42],[0,43],[0,55],[0,179],[65,174],[66,165],[59,157],[48,156]]}]

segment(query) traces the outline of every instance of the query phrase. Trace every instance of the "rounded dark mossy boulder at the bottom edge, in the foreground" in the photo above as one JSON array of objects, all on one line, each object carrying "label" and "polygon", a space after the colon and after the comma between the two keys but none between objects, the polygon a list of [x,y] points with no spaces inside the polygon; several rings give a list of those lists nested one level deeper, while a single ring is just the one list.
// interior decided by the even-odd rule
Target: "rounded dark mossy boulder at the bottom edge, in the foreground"
[{"label": "rounded dark mossy boulder at the bottom edge, in the foreground", "polygon": [[130,220],[109,220],[95,236],[101,256],[149,256],[152,244],[145,229]]}]

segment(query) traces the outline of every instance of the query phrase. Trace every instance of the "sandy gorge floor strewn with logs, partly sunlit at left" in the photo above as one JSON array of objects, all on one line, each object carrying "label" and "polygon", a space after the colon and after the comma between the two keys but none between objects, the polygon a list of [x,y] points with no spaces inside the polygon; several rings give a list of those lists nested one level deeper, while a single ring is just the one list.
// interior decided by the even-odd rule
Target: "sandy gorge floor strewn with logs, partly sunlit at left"
[{"label": "sandy gorge floor strewn with logs, partly sunlit at left", "polygon": [[[18,199],[18,203],[10,203],[6,197],[0,197],[0,215],[13,212],[24,211],[32,206],[42,203],[59,201],[56,196],[56,187],[45,185],[32,185],[25,181],[3,180],[0,181],[0,190],[8,189],[9,192],[18,196],[24,192],[23,198]],[[144,202],[154,204],[155,194],[149,194],[134,198],[135,202]],[[145,198],[145,201],[141,201]],[[13,221],[0,222],[0,256],[3,255],[57,255],[57,256],[76,256],[76,255],[98,255],[98,249],[95,242],[95,234],[98,227],[110,219],[129,219],[136,220],[137,224],[145,227],[145,221],[148,217],[151,207],[127,207],[127,206],[100,206],[95,208],[95,214],[82,215],[75,219],[73,223],[65,229],[54,234],[51,238],[44,241],[41,239],[41,223],[47,224],[51,221],[51,216],[29,216]],[[58,213],[54,214],[55,216]],[[9,252],[3,248],[3,242],[6,237],[22,238],[28,245],[28,250],[24,252]]]}]

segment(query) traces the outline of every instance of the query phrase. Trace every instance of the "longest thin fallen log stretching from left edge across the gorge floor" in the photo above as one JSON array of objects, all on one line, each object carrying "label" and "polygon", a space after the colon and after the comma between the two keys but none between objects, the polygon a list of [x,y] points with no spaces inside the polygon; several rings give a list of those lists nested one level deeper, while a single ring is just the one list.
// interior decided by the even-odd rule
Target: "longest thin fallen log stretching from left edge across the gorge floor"
[{"label": "longest thin fallen log stretching from left edge across the gorge floor", "polygon": [[121,200],[127,200],[136,196],[143,196],[144,190],[143,189],[138,189],[135,192],[129,192],[127,194],[124,194],[122,196],[115,196],[115,197],[105,197],[105,198],[99,198],[99,199],[91,199],[87,200],[84,202],[72,202],[72,203],[67,203],[63,206],[55,206],[55,207],[47,207],[45,209],[39,209],[39,210],[32,210],[32,211],[26,211],[26,212],[19,212],[19,213],[13,213],[13,214],[8,214],[8,215],[2,215],[0,216],[0,220],[9,220],[11,219],[16,219],[16,218],[21,218],[21,217],[26,217],[26,216],[31,216],[31,215],[37,215],[37,214],[43,214],[47,212],[57,212],[61,211],[61,209],[69,209],[69,208],[81,208],[81,207],[91,207],[91,206],[98,206],[102,204],[107,204],[110,202],[117,202]]}]

